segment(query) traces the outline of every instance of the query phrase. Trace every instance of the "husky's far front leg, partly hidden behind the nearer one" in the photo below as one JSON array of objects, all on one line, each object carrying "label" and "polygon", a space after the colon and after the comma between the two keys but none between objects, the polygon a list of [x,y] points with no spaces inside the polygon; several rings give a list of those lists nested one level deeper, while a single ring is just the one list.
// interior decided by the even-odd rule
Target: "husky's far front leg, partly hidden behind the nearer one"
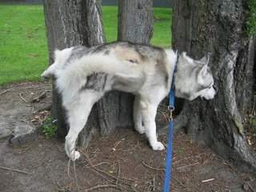
[{"label": "husky's far front leg, partly hidden behind the nearer one", "polygon": [[142,106],[139,95],[136,95],[134,99],[134,128],[138,133],[145,134],[145,127],[142,124]]}]

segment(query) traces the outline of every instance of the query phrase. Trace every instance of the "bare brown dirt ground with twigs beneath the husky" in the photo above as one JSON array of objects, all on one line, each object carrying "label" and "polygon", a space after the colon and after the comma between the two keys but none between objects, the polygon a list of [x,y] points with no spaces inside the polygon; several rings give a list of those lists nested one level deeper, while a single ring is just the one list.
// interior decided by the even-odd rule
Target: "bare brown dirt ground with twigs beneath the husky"
[{"label": "bare brown dirt ground with twigs beneath the husky", "polygon": [[[50,83],[23,82],[0,87],[0,120],[34,122],[50,105]],[[46,92],[46,98],[30,98]],[[44,112],[46,114],[46,112]],[[39,120],[38,120],[39,119]],[[1,120],[2,121],[2,120]],[[162,191],[165,151],[150,149],[144,135],[120,129],[107,137],[94,136],[82,158],[69,162],[63,143],[46,139],[10,146],[0,139],[0,191]],[[159,138],[166,144],[166,137]],[[186,134],[174,136],[171,191],[256,191],[253,175],[236,170],[207,146],[191,143]],[[9,169],[9,170],[8,170]]]}]

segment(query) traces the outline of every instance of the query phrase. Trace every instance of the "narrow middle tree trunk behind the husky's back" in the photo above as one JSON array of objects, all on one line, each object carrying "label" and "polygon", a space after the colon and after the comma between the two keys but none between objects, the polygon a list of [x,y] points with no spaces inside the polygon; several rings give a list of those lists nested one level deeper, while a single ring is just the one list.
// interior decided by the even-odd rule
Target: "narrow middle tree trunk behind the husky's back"
[{"label": "narrow middle tree trunk behind the husky's back", "polygon": [[[149,44],[153,35],[153,1],[118,1],[118,41]],[[120,126],[133,126],[133,101],[131,94],[116,93]]]}]

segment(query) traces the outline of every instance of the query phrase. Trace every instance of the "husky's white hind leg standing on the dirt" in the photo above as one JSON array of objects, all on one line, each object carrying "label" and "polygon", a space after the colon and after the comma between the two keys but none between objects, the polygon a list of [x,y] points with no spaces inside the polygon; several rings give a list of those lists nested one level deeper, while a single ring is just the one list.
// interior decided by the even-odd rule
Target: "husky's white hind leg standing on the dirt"
[{"label": "husky's white hind leg standing on the dirt", "polygon": [[98,94],[98,92],[86,90],[80,95],[77,102],[66,107],[70,123],[70,130],[66,135],[65,150],[67,156],[72,161],[75,161],[80,157],[80,153],[75,150],[75,143],[78,138],[78,134],[86,125],[90,110],[99,98],[100,94]]}]

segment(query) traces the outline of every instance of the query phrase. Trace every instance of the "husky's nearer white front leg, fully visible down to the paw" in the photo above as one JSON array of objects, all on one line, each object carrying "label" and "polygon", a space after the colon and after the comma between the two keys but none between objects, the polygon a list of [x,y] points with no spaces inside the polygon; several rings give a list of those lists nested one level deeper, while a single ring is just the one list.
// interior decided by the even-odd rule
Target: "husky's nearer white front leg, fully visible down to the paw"
[{"label": "husky's nearer white front leg, fully visible down to the paw", "polygon": [[142,108],[143,122],[146,128],[146,136],[149,139],[150,146],[153,150],[164,150],[165,147],[162,142],[158,142],[155,116],[157,114],[158,105],[152,103],[145,103]]}]

